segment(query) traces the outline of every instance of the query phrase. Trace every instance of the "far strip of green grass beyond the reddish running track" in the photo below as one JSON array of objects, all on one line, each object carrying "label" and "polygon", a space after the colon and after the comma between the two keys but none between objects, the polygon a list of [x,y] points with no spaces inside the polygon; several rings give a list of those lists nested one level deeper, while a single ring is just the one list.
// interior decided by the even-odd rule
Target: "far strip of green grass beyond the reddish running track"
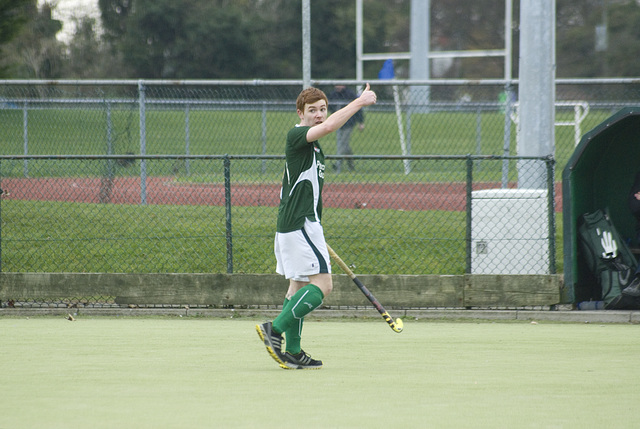
[{"label": "far strip of green grass beyond the reddish running track", "polygon": [[[582,134],[596,127],[612,112],[593,109],[581,124]],[[23,111],[0,110],[0,146],[3,154],[24,153]],[[573,112],[558,111],[556,121],[573,120]],[[146,111],[146,153],[185,154],[186,115],[183,110]],[[354,132],[356,155],[400,155],[401,148],[393,112],[367,113],[364,132]],[[139,112],[135,105],[114,108],[107,116],[101,109],[34,109],[28,112],[28,153],[125,154],[140,153]],[[192,155],[271,154],[283,152],[284,133],[297,122],[295,112],[202,110],[189,113],[189,153]],[[560,173],[574,149],[574,129],[555,130]],[[335,154],[335,136],[322,140],[327,154]],[[502,155],[504,115],[499,112],[448,111],[414,114],[411,120],[413,155]],[[511,126],[510,155],[516,155],[516,126]],[[64,174],[64,173],[61,173]]]}]

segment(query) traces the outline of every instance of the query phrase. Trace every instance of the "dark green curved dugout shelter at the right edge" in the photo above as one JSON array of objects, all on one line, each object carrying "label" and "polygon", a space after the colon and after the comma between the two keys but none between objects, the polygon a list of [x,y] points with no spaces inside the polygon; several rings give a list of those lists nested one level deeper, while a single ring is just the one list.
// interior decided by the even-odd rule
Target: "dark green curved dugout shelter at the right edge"
[{"label": "dark green curved dugout shelter at the right edge", "polygon": [[608,210],[620,236],[634,245],[636,220],[628,205],[640,171],[640,107],[627,107],[585,134],[562,172],[565,303],[590,299],[588,271],[578,246],[578,222],[584,213]]}]

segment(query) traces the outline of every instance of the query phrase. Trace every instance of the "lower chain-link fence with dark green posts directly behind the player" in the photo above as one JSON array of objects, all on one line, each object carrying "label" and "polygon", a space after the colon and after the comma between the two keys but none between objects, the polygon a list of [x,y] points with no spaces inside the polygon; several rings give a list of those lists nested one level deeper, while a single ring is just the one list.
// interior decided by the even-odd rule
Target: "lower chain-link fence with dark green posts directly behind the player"
[{"label": "lower chain-link fence with dark green posts directly behind the player", "polygon": [[[350,160],[355,171],[325,182],[323,224],[327,240],[350,255],[359,271],[473,272],[470,223],[476,222],[480,240],[476,253],[486,254],[504,219],[518,221],[509,214],[513,208],[499,213],[502,206],[494,209],[491,201],[511,199],[520,206],[531,192],[540,203],[536,220],[546,221],[520,226],[517,235],[500,240],[525,241],[516,272],[555,270],[548,244],[539,254],[542,268],[529,267],[526,243],[533,233],[544,243],[553,235],[553,189],[518,190],[513,182],[501,188],[504,163],[516,159]],[[21,173],[25,162],[28,177]],[[190,174],[182,168],[187,162]],[[541,162],[553,174],[553,160]],[[3,156],[2,271],[272,273],[283,165],[282,156]],[[477,206],[476,218],[470,203]],[[497,252],[482,270],[499,270],[495,264],[514,253],[508,247]]]}]

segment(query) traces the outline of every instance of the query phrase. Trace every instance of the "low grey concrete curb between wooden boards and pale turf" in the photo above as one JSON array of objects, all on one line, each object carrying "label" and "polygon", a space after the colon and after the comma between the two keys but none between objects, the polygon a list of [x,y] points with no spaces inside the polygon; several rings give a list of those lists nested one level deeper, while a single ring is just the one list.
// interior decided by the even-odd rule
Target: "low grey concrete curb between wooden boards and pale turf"
[{"label": "low grey concrete curb between wooden boards and pale turf", "polygon": [[[279,309],[208,309],[208,308],[2,308],[2,317],[45,317],[72,314],[86,317],[211,317],[272,319]],[[549,321],[566,323],[633,323],[640,324],[640,311],[541,311],[541,310],[392,310],[392,316],[414,320],[486,320]],[[316,319],[377,318],[374,309],[321,309],[313,312]]]}]

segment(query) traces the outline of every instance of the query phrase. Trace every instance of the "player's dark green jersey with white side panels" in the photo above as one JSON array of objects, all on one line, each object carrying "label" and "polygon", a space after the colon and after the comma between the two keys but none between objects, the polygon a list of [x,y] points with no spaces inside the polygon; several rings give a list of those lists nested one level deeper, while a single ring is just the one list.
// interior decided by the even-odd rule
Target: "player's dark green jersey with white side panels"
[{"label": "player's dark green jersey with white side panels", "polygon": [[278,232],[297,231],[305,219],[320,222],[322,218],[324,153],[317,140],[307,142],[309,128],[296,126],[287,134]]}]

